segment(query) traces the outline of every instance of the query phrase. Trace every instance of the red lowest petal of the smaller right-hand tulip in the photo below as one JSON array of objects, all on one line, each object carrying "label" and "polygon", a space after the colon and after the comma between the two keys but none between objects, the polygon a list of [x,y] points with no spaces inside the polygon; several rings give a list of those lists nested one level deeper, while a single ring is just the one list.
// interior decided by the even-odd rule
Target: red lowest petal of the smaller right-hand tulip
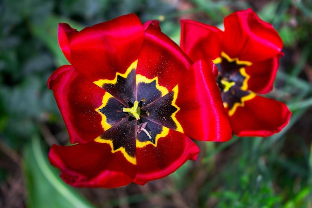
[{"label": "red lowest petal of the smaller right-hand tulip", "polygon": [[255,96],[237,107],[230,116],[234,134],[238,136],[271,136],[280,132],[289,122],[291,112],[279,101]]}]

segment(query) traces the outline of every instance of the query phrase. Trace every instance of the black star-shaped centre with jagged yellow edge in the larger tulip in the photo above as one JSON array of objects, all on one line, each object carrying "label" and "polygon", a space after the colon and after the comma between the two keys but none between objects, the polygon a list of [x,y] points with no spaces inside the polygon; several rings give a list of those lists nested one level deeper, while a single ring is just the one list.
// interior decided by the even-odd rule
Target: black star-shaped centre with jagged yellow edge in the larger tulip
[{"label": "black star-shaped centre with jagged yellow edge in the larger tulip", "polygon": [[175,103],[178,85],[169,91],[158,84],[157,76],[150,79],[137,74],[137,62],[125,73],[117,72],[114,79],[94,82],[106,91],[95,109],[105,131],[95,141],[109,144],[112,153],[120,151],[132,164],[136,164],[137,148],[156,147],[169,129],[183,133],[175,118],[180,109]]}]

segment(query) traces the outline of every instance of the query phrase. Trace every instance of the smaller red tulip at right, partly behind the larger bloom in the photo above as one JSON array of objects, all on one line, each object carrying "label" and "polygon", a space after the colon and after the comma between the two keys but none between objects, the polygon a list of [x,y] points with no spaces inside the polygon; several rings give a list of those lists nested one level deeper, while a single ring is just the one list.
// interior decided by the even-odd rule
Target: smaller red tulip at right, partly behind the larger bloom
[{"label": "smaller red tulip at right, partly behind the larger bloom", "polygon": [[273,26],[251,9],[224,19],[224,31],[192,20],[181,20],[181,48],[193,60],[208,57],[218,64],[217,84],[234,134],[270,136],[291,117],[268,93],[282,55],[283,42]]}]

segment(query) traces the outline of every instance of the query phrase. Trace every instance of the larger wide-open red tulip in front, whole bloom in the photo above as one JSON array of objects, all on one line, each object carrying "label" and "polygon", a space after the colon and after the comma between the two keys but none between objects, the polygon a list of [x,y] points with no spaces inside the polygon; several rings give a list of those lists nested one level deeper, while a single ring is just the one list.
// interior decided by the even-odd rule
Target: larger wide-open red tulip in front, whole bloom
[{"label": "larger wide-open red tulip in front, whole bloom", "polygon": [[58,34],[71,65],[58,68],[48,86],[78,144],[53,145],[49,159],[66,183],[144,185],[196,160],[190,138],[231,138],[215,65],[193,63],[157,21],[128,14],[81,31],[61,23]]}]

